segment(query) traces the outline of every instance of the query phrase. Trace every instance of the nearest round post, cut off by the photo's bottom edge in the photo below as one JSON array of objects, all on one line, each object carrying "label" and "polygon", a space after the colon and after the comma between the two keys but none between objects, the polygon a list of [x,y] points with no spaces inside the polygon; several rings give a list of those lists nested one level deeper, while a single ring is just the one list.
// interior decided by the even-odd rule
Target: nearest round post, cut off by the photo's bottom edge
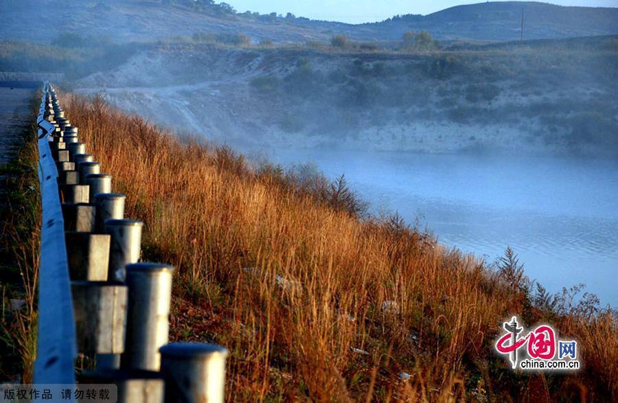
[{"label": "nearest round post, cut off by the photo's bottom edge", "polygon": [[166,403],[224,401],[227,349],[206,343],[170,343],[160,351]]}]

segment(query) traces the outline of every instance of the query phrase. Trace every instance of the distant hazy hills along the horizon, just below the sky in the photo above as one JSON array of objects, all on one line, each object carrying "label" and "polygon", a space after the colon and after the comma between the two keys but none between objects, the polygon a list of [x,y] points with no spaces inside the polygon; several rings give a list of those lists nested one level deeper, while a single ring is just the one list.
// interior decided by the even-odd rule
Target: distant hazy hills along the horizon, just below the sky
[{"label": "distant hazy hills along the horizon, just below the sky", "polygon": [[291,14],[237,14],[220,5],[199,8],[196,4],[193,0],[4,0],[0,2],[0,36],[49,42],[60,33],[74,33],[126,42],[196,32],[242,32],[253,41],[286,43],[328,41],[333,34],[347,34],[356,41],[400,41],[408,30],[428,30],[443,41],[514,41],[520,38],[522,12],[525,39],[618,34],[618,8],[523,1],[460,5],[426,16],[394,16],[380,23],[360,25],[314,21]]}]

